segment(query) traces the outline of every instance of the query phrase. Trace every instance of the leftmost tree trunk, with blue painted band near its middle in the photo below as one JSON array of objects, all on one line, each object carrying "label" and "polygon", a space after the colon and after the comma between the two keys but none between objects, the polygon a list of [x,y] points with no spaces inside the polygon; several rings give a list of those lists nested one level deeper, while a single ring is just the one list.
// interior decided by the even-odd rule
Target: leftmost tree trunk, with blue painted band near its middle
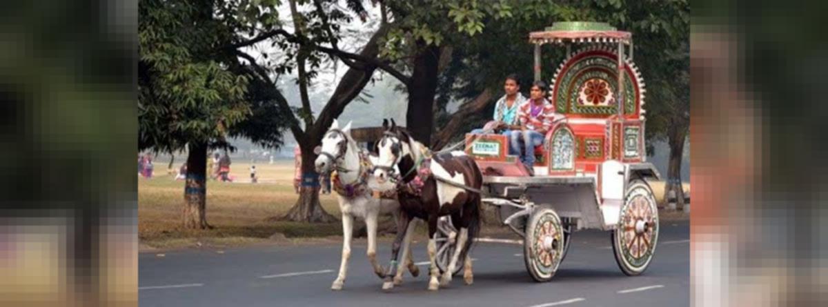
[{"label": "leftmost tree trunk, with blue painted band near its middle", "polygon": [[190,143],[184,185],[184,228],[211,228],[207,223],[207,144]]}]

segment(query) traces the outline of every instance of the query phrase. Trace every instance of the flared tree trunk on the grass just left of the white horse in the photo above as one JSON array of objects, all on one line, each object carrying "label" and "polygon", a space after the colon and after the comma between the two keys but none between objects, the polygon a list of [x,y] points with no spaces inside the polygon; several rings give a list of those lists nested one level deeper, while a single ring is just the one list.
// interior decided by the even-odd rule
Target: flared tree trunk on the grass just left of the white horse
[{"label": "flared tree trunk on the grass just left of the white horse", "polygon": [[293,204],[293,208],[282,217],[283,220],[310,223],[336,221],[333,215],[325,212],[319,202],[320,183],[319,174],[316,173],[314,167],[316,154],[313,152],[313,146],[301,146],[302,182],[299,187],[299,199],[296,200],[296,204]]}]

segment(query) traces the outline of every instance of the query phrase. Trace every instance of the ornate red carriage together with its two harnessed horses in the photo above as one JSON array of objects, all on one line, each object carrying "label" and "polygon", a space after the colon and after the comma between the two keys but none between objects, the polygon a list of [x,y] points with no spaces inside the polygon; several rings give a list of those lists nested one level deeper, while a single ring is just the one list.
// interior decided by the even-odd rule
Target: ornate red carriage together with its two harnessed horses
[{"label": "ornate red carriage together with its two harnessed horses", "polygon": [[[406,266],[412,275],[418,272],[407,243],[416,220],[429,228],[428,289],[448,285],[461,268],[471,284],[469,242],[479,231],[480,204],[496,208],[503,224],[523,237],[527,271],[536,281],[551,280],[571,235],[589,228],[612,232],[615,259],[625,274],[647,269],[659,221],[646,180],[659,175],[644,152],[644,84],[632,62],[632,35],[604,23],[559,22],[529,39],[535,45],[536,80],[541,46],[557,44],[567,51],[550,87],[551,103],[564,119],[531,152],[539,158],[532,171],[507,154],[503,135],[467,134],[465,152],[431,152],[392,120],[390,126],[383,122],[378,155],[368,156],[350,124],[339,128],[334,121],[315,161],[318,172],[335,170],[339,179],[344,247],[332,289],[343,285],[354,217],[369,225],[367,255],[385,279],[383,289],[402,282]],[[585,48],[571,52],[571,46]],[[378,266],[374,248],[382,209],[393,209],[398,217],[388,271]]]}]

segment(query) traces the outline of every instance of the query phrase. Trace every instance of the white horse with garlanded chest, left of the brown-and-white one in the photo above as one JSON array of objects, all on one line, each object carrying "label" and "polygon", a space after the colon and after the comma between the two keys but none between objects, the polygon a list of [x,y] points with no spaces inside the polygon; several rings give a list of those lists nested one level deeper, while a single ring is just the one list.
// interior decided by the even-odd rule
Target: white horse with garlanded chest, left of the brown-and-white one
[{"label": "white horse with garlanded chest, left of the brown-and-white one", "polygon": [[[351,237],[354,233],[354,218],[362,218],[368,228],[368,260],[371,261],[373,271],[383,278],[383,266],[377,262],[377,220],[380,213],[392,213],[397,221],[400,204],[396,199],[374,198],[372,190],[368,188],[368,181],[372,186],[378,184],[373,179],[371,168],[375,159],[361,151],[350,135],[351,123],[339,129],[339,123],[334,120],[328,132],[322,137],[322,146],[317,147],[319,156],[315,161],[316,171],[320,174],[329,174],[335,170],[331,185],[336,191],[339,200],[339,211],[342,212],[342,263],[339,266],[339,276],[336,277],[332,290],[341,290],[348,271],[348,259],[351,255]],[[415,228],[414,223],[408,225],[405,239],[402,242],[402,260],[394,276],[394,284],[402,283],[402,272],[405,266],[412,276],[419,275],[419,268],[414,265],[411,257],[411,236]]]}]

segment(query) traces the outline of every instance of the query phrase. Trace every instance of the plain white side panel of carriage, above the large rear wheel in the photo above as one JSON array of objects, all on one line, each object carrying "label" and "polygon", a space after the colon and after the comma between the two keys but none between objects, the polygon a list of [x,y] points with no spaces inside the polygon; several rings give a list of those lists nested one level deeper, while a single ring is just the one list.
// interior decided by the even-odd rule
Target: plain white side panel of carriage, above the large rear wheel
[{"label": "plain white side panel of carriage, above the large rear wheel", "polygon": [[607,229],[614,228],[619,221],[626,173],[626,166],[619,161],[609,160],[601,163],[601,213],[604,213],[604,226]]}]

